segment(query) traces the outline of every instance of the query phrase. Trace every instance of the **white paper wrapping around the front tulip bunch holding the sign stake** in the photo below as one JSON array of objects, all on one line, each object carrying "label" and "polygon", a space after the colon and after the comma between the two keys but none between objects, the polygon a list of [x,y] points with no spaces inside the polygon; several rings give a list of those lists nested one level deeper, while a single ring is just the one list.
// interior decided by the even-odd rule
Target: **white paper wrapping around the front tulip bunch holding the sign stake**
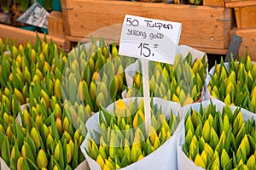
[{"label": "white paper wrapping around the front tulip bunch holding the sign stake", "polygon": [[[129,98],[129,99],[123,99],[125,104],[128,105],[130,100],[134,101],[136,98]],[[138,103],[142,98],[138,98]],[[173,111],[173,114],[177,116],[177,112],[179,108],[181,107],[179,104],[171,101],[166,101],[164,99],[160,98],[154,98],[154,105],[158,105],[158,108],[162,107],[162,113],[165,114],[166,118],[170,117],[170,111]],[[109,105],[107,110],[113,111],[113,105]],[[88,132],[91,130],[96,130],[99,132],[98,129],[98,116],[99,112],[97,112],[94,116],[91,116],[88,122],[86,123],[86,127]],[[184,118],[183,114],[180,113],[181,120]],[[181,121],[182,122],[182,121]],[[166,143],[162,144],[160,148],[155,150],[153,153],[151,153],[148,156],[145,156],[141,161],[137,161],[127,167],[121,168],[122,170],[141,170],[141,169],[147,169],[147,170],[155,170],[155,169],[177,169],[177,137],[180,133],[182,123],[179,123],[177,126],[177,129],[175,133],[173,133],[172,137],[166,141]],[[89,163],[90,169],[93,170],[99,170],[101,167],[98,165],[98,163],[91,159],[90,156],[87,155],[84,148],[88,149],[88,139],[90,138],[90,133],[87,133],[86,138],[84,139],[83,144],[81,144],[81,150],[86,158],[86,160]]]}]

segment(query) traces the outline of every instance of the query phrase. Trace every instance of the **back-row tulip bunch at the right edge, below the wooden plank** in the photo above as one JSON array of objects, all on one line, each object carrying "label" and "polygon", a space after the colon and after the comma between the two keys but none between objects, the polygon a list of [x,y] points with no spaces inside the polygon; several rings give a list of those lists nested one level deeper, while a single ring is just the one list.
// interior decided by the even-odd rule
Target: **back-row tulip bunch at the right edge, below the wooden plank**
[{"label": "back-row tulip bunch at the right edge, below the wooden plank", "polygon": [[233,60],[224,63],[210,71],[208,90],[212,97],[224,101],[228,105],[241,106],[256,113],[256,65],[250,56],[245,59]]}]

